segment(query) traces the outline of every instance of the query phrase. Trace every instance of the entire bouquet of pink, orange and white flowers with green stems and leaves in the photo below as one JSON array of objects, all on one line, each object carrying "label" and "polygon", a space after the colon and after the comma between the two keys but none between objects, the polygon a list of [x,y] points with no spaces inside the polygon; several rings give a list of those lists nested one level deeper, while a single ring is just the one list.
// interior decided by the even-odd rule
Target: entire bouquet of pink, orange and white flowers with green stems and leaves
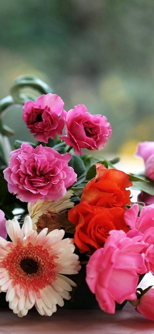
[{"label": "entire bouquet of pink, orange and white flowers with green stems and leaves", "polygon": [[[23,106],[35,138],[16,140],[13,151],[2,122],[11,105]],[[145,175],[128,175],[115,168],[118,158],[82,151],[103,149],[107,118],[63,107],[34,76],[17,78],[0,102],[0,297],[19,317],[33,306],[47,316],[57,305],[114,313],[129,300],[154,319],[154,290],[137,288],[154,274],[154,142],[138,146]],[[141,190],[138,203],[131,188]]]}]

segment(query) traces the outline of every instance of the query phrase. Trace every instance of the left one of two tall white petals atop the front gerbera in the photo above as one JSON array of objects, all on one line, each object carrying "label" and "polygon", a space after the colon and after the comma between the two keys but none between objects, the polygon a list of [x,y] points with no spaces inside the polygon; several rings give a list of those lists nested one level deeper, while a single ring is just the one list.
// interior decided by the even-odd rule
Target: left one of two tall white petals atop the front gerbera
[{"label": "left one of two tall white petals atop the front gerbera", "polygon": [[20,225],[17,219],[14,218],[12,220],[8,220],[6,222],[6,230],[12,242],[16,245],[17,238],[20,237]]}]

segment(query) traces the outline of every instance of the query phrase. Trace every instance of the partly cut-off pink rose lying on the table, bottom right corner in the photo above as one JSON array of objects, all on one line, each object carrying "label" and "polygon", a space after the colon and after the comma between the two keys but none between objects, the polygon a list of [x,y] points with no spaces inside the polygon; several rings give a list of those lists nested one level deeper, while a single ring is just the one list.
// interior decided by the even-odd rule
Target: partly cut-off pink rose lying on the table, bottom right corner
[{"label": "partly cut-off pink rose lying on the table, bottom right corner", "polygon": [[139,300],[136,311],[143,314],[147,319],[154,320],[154,289],[150,289]]}]

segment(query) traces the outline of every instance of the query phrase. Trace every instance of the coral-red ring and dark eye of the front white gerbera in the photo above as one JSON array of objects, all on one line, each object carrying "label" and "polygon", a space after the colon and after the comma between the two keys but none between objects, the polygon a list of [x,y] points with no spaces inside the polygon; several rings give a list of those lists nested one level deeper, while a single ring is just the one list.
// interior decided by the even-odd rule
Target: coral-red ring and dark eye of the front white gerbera
[{"label": "coral-red ring and dark eye of the front white gerbera", "polygon": [[[57,258],[57,257],[56,257]],[[23,246],[20,240],[1,262],[0,268],[6,268],[12,285],[20,285],[27,291],[39,291],[55,281],[54,256],[50,256],[47,248],[42,245],[33,246],[30,242]]]}]

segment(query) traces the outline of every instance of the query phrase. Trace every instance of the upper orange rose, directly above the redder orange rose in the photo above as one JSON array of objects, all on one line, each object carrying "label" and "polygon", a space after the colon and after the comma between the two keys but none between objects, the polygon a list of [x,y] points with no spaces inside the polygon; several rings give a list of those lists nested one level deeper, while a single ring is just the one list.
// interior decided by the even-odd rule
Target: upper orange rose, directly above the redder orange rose
[{"label": "upper orange rose, directly above the redder orange rose", "polygon": [[117,169],[107,169],[101,164],[96,164],[96,172],[96,177],[87,183],[83,191],[81,203],[87,201],[91,205],[106,208],[125,208],[126,204],[131,204],[130,190],[126,190],[132,186],[128,174]]}]

